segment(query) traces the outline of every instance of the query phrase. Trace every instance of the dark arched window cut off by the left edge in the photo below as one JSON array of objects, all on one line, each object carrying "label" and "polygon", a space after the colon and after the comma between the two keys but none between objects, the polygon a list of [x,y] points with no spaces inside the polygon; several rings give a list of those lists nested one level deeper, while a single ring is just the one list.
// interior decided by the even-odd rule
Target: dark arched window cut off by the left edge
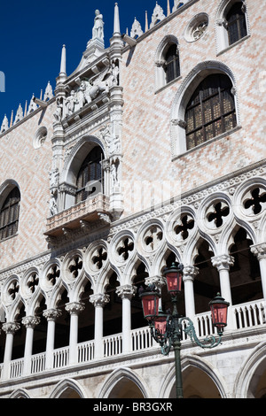
[{"label": "dark arched window cut off by the left edge", "polygon": [[20,190],[13,188],[0,210],[0,240],[15,235],[19,227]]}]

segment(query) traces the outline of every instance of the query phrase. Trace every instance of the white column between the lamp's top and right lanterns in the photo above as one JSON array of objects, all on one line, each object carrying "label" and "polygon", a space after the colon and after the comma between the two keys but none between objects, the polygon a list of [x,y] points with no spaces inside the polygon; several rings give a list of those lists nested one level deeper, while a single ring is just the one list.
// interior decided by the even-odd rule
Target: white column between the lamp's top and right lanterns
[{"label": "white column between the lamp's top and right lanterns", "polygon": [[184,266],[183,281],[184,281],[184,304],[185,316],[190,318],[195,324],[195,298],[194,298],[194,279],[199,273],[198,267]]}]

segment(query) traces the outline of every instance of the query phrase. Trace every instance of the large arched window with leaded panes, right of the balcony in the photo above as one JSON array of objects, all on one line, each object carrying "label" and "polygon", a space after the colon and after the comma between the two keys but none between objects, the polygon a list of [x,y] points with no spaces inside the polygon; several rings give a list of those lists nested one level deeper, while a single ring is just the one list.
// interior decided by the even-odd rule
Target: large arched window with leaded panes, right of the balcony
[{"label": "large arched window with leaded panes, right of the balcony", "polygon": [[212,73],[200,82],[185,110],[187,150],[237,125],[232,84],[227,75]]}]

